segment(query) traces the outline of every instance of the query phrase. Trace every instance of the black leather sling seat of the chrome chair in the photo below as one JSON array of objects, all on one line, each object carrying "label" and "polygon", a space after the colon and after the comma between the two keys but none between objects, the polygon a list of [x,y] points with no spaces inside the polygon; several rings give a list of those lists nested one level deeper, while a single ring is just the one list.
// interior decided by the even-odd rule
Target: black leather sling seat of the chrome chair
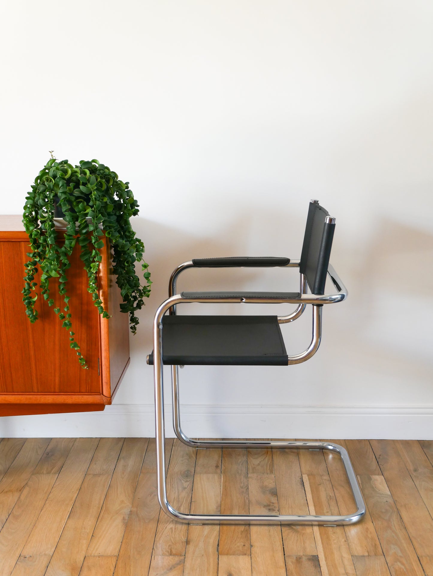
[{"label": "black leather sling seat of the chrome chair", "polygon": [[277,316],[164,316],[163,363],[287,366],[288,356]]}]

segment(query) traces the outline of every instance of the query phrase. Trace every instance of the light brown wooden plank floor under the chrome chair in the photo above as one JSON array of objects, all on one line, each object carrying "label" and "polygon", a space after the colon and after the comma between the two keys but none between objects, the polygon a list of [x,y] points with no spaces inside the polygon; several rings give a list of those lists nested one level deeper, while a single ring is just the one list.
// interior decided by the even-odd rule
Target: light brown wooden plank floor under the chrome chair
[{"label": "light brown wooden plank floor under the chrome chair", "polygon": [[[433,576],[433,441],[336,440],[368,511],[352,526],[194,526],[160,513],[155,439],[0,442],[1,576]],[[346,514],[338,454],[167,439],[182,511]]]}]

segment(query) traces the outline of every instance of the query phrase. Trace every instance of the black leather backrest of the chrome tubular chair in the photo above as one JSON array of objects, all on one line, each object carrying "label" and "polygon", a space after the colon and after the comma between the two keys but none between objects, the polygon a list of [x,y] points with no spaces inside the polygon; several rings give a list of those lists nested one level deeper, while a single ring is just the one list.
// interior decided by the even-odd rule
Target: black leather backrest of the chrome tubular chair
[{"label": "black leather backrest of the chrome tubular chair", "polygon": [[306,275],[312,294],[325,294],[325,282],[335,224],[319,204],[310,202],[299,271]]}]

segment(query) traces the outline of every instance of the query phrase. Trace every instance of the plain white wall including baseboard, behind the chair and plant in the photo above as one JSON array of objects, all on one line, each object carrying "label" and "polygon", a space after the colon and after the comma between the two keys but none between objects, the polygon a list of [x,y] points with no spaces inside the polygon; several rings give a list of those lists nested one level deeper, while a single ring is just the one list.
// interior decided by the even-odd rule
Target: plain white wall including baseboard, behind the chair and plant
[{"label": "plain white wall including baseboard, behind the chair and plant", "polygon": [[[140,202],[133,225],[154,283],[114,406],[3,418],[0,434],[151,435],[145,355],[171,270],[191,257],[299,257],[318,198],[337,219],[332,262],[349,300],[323,310],[307,363],[186,367],[185,430],[433,438],[430,0],[21,0],[1,10],[1,213],[20,213],[47,150],[96,157]],[[296,276],[190,271],[179,287],[291,290]],[[310,317],[283,331],[289,353],[301,351]]]}]

